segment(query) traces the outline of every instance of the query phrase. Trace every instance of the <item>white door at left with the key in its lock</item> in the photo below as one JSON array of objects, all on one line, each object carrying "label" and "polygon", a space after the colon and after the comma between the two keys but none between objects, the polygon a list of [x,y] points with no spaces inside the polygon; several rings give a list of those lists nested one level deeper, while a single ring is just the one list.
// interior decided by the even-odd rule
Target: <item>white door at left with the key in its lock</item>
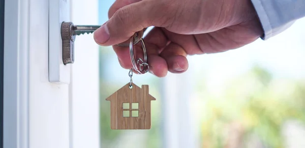
[{"label": "white door at left with the key in its lock", "polygon": [[[50,1],[71,6],[74,24],[98,23],[97,0]],[[49,82],[49,14],[59,10],[49,10],[48,0],[5,1],[5,148],[99,147],[99,52],[93,35],[76,37],[75,63],[66,67],[70,82]]]}]

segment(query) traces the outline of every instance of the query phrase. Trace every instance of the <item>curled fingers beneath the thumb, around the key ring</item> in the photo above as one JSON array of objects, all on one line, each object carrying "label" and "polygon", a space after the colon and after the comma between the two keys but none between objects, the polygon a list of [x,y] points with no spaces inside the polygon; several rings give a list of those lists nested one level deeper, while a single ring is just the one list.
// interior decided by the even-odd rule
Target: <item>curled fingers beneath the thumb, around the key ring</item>
[{"label": "curled fingers beneath the thumb, around the key ring", "polygon": [[[186,58],[187,52],[182,46],[174,42],[169,43],[161,28],[154,28],[144,40],[150,73],[158,77],[164,77],[168,71],[171,73],[183,73],[187,71],[189,67]],[[128,47],[116,45],[113,47],[121,67],[131,69],[132,64]],[[136,59],[139,57],[143,59],[143,51],[140,44],[134,46],[134,51]]]}]

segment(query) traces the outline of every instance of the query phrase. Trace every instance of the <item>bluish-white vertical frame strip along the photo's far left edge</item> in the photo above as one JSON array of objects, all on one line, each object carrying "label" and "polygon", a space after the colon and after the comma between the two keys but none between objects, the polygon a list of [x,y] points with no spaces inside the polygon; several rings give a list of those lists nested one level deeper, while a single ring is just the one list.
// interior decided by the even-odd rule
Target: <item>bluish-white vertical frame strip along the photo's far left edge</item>
[{"label": "bluish-white vertical frame strip along the photo's far left edge", "polygon": [[29,1],[5,1],[4,147],[28,147]]}]

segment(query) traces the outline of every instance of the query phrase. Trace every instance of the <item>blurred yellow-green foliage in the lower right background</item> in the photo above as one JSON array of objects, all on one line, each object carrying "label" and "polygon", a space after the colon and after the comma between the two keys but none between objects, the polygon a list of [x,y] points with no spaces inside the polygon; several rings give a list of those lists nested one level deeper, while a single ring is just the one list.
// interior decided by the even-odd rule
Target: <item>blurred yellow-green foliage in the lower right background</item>
[{"label": "blurred yellow-green foliage in the lower right background", "polygon": [[269,147],[282,148],[284,122],[290,119],[305,122],[305,83],[300,80],[274,79],[256,66],[224,85],[226,89],[218,94],[198,92],[205,98],[202,110],[203,145],[208,145],[205,147],[226,147],[229,136],[224,131],[228,125],[238,123],[243,137],[239,143],[246,141],[247,135],[255,134]]}]

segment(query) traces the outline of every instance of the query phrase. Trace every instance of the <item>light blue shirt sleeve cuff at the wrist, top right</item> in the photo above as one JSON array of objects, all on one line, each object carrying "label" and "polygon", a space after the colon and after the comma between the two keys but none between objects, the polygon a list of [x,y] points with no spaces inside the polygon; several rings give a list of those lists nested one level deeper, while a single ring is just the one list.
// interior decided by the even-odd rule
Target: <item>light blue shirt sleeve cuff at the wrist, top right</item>
[{"label": "light blue shirt sleeve cuff at the wrist, top right", "polygon": [[305,0],[251,0],[267,40],[289,28],[305,16]]}]

